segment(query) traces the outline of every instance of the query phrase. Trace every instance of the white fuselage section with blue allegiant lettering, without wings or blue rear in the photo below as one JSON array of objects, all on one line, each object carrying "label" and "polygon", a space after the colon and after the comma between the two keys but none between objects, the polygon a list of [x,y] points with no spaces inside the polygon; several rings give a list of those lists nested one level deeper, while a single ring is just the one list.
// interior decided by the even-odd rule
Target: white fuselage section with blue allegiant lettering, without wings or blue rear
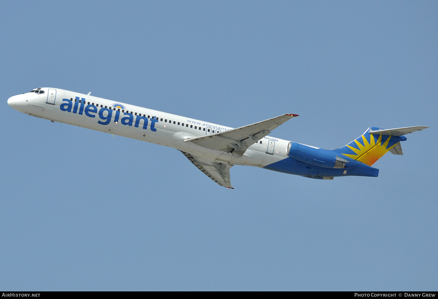
[{"label": "white fuselage section with blue allegiant lettering, without wings or blue rear", "polygon": [[[236,157],[185,142],[233,128],[59,88],[39,90],[44,93],[19,94],[9,98],[8,104],[28,115],[170,146],[218,163],[265,167],[288,157],[287,140],[265,136],[251,145],[243,156]],[[268,150],[268,146],[271,149]]]}]

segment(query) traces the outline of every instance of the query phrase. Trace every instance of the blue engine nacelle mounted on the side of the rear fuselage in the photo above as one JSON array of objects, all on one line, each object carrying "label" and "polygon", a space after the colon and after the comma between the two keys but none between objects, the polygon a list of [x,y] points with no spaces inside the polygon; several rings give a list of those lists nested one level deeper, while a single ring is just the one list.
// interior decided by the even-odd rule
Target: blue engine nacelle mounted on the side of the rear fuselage
[{"label": "blue engine nacelle mounted on the side of the rear fuselage", "polygon": [[344,168],[345,163],[350,163],[331,150],[316,149],[295,142],[288,144],[286,154],[295,160],[326,168]]}]

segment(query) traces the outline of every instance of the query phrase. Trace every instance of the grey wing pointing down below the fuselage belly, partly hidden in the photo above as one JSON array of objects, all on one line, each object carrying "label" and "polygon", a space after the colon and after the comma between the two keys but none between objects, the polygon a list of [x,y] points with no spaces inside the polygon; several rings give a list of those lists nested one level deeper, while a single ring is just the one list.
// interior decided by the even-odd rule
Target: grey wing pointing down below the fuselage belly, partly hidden
[{"label": "grey wing pointing down below the fuselage belly, partly hidden", "polygon": [[231,187],[230,181],[230,168],[233,166],[233,164],[215,163],[201,159],[197,156],[192,156],[191,154],[183,151],[180,152],[183,153],[194,166],[196,166],[205,175],[207,175],[207,177],[211,178],[217,184],[226,188],[234,189]]}]

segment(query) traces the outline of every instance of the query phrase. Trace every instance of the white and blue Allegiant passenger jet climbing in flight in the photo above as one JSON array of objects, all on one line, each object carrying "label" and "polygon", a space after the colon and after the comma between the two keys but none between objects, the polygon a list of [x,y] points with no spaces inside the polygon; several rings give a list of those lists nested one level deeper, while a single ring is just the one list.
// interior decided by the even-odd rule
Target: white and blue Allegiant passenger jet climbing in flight
[{"label": "white and blue Allegiant passenger jet climbing in flight", "polygon": [[371,167],[385,153],[403,155],[404,135],[429,127],[368,128],[337,149],[321,149],[272,137],[273,129],[298,115],[286,113],[262,122],[231,128],[194,118],[138,107],[52,87],[10,97],[20,112],[178,149],[220,186],[232,188],[230,168],[249,165],[303,177],[377,177]]}]

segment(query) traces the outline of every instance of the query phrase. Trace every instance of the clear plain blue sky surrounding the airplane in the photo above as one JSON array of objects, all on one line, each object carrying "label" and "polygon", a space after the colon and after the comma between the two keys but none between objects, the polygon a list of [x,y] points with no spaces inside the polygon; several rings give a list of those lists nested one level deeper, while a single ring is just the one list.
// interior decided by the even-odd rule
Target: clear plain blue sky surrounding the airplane
[{"label": "clear plain blue sky surrounding the airplane", "polygon": [[[0,289],[436,290],[436,1],[2,1]],[[427,125],[379,177],[235,166],[19,113],[58,87],[322,148]]]}]

